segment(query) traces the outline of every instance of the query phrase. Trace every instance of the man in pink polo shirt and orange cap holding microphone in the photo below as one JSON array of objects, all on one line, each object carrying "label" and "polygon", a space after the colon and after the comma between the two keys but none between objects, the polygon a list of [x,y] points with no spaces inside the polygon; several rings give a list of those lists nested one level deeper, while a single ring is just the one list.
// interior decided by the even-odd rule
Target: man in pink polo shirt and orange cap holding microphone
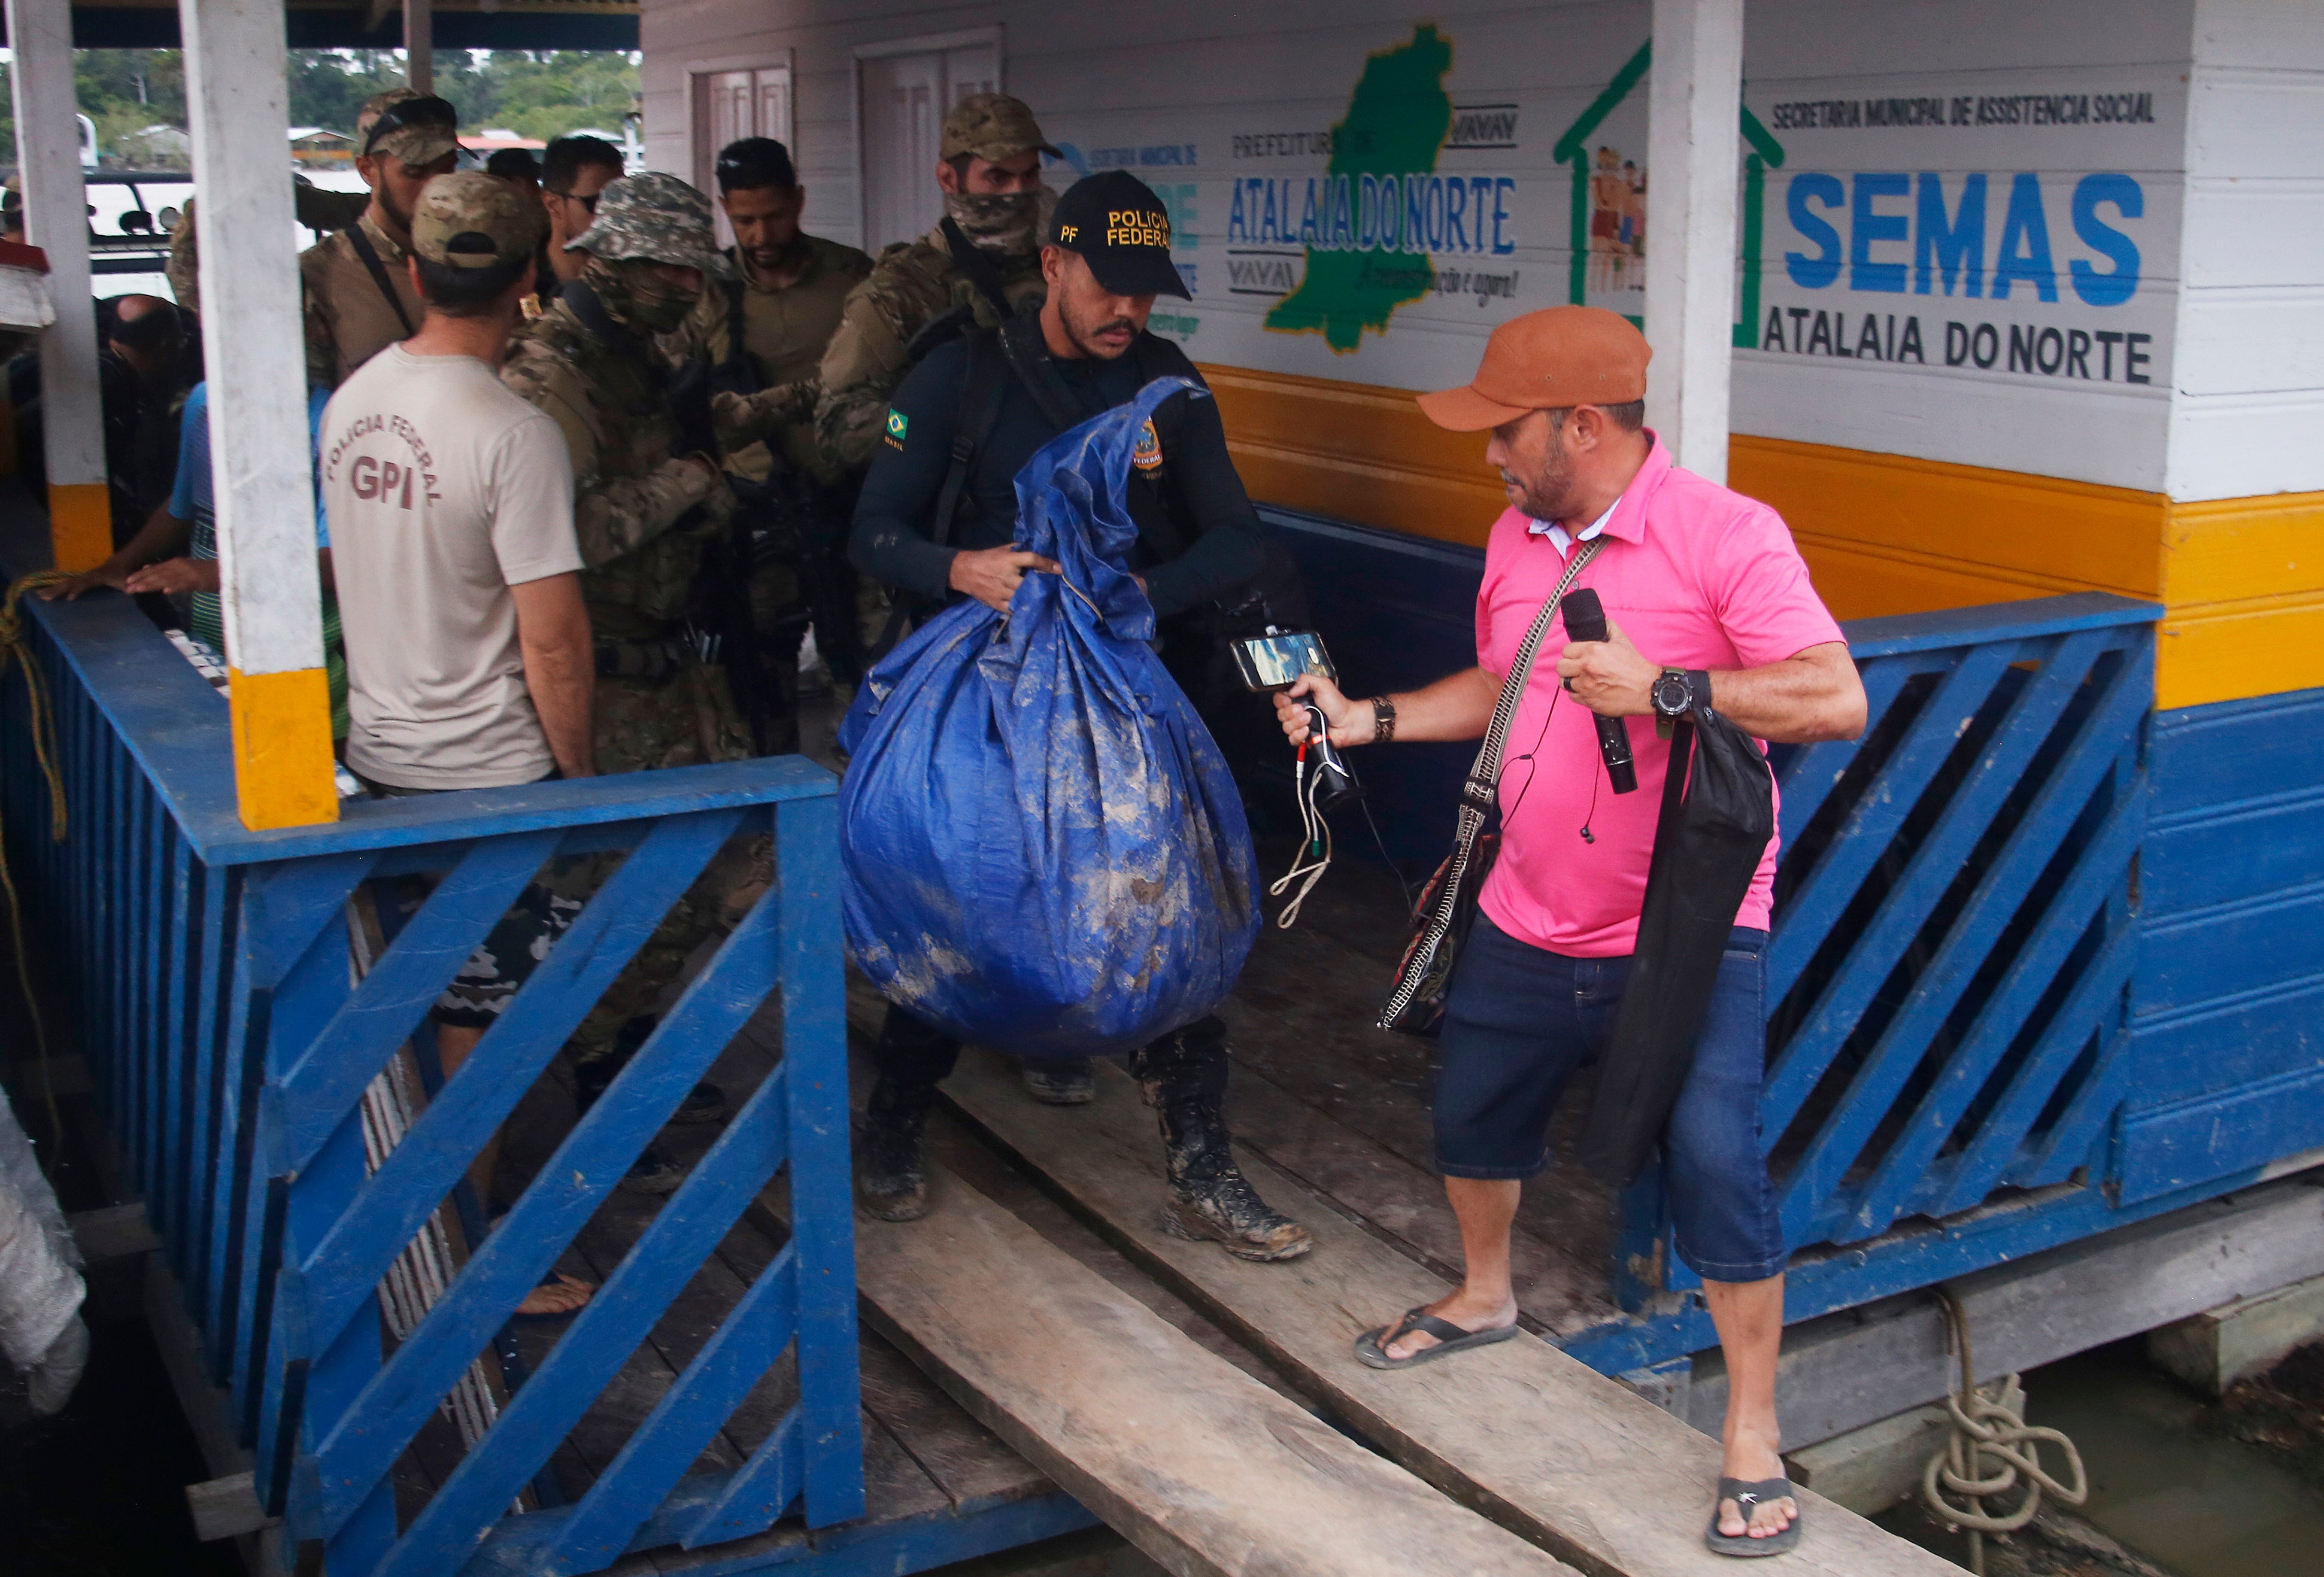
[{"label": "man in pink polo shirt and orange cap holding microphone", "polygon": [[[1357,1356],[1373,1368],[1515,1331],[1508,1226],[1520,1180],[1548,1166],[1550,1112],[1604,1045],[1638,936],[1671,755],[1657,711],[1713,704],[1762,741],[1864,729],[1864,685],[1783,518],[1678,469],[1643,427],[1648,355],[1629,321],[1552,307],[1494,330],[1471,386],[1422,395],[1436,425],[1492,430],[1485,460],[1508,490],[1485,546],[1478,667],[1360,701],[1304,678],[1276,704],[1294,743],[1306,739],[1299,697],[1322,708],[1341,748],[1478,739],[1541,604],[1592,555],[1573,585],[1606,604],[1608,639],[1566,641],[1557,625],[1543,636],[1501,764],[1501,857],[1446,1010],[1436,1168],[1459,1215],[1464,1282],[1367,1333]],[[1606,783],[1597,715],[1627,720],[1631,794]],[[1773,883],[1769,841],[1662,1145],[1678,1256],[1703,1277],[1727,1354],[1727,1454],[1706,1533],[1720,1554],[1776,1554],[1799,1538],[1776,1424],[1783,1219],[1759,1145]]]}]

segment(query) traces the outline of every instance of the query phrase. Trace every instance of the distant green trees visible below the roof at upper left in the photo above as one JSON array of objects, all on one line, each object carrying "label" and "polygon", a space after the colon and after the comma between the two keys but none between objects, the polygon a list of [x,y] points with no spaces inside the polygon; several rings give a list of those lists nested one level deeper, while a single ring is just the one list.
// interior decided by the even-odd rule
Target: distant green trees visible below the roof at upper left
[{"label": "distant green trees visible below the roof at upper left", "polygon": [[[286,63],[290,125],[353,132],[363,100],[400,86],[393,49],[293,49]],[[149,125],[186,128],[186,63],[177,49],[74,49],[81,114],[98,123],[98,149],[119,163],[123,139]],[[507,128],[521,137],[562,137],[581,128],[621,130],[639,107],[637,56],[593,49],[449,49],[437,53],[437,93],[460,107],[460,130]],[[12,84],[0,72],[0,163],[16,163]]]}]

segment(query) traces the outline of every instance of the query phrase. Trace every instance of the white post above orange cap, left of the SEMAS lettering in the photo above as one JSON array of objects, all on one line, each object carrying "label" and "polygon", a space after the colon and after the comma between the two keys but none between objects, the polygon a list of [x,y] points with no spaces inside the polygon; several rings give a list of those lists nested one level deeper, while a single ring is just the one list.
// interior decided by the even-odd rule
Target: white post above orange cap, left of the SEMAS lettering
[{"label": "white post above orange cap, left of the SEMAS lettering", "polygon": [[1683,467],[1727,481],[1743,0],[1655,0],[1648,72],[1645,418]]}]

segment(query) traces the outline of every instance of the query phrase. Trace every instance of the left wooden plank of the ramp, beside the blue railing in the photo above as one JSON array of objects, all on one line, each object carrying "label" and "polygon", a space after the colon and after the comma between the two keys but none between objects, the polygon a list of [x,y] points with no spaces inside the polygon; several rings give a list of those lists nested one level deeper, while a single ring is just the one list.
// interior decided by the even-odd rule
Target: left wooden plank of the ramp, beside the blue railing
[{"label": "left wooden plank of the ramp, beside the blue railing", "polygon": [[[1023,1099],[1023,1096],[1020,1096]],[[1002,1440],[1181,1575],[1571,1577],[932,1166],[923,1222],[858,1217],[865,1312]]]}]

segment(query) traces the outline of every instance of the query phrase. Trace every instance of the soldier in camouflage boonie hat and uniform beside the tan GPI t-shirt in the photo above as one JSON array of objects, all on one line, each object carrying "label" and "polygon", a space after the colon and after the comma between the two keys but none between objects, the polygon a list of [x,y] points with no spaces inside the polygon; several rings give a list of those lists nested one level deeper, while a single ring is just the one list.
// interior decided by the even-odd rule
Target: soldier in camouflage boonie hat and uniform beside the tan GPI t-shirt
[{"label": "soldier in camouflage boonie hat and uniform beside the tan GPI t-shirt", "polygon": [[[702,662],[686,627],[702,550],[732,495],[718,465],[681,434],[667,334],[723,279],[709,200],[672,174],[623,177],[597,197],[597,223],[565,244],[588,255],[548,309],[525,323],[502,381],[565,430],[574,467],[581,595],[597,634],[597,771],[651,771],[751,755],[725,676]],[[662,992],[704,941],[730,927],[772,878],[765,838],[727,845],[665,915],[567,1043],[581,1103],[611,1082],[653,1029]],[[716,1117],[725,1096],[697,1087],[681,1117]],[[667,1191],[681,1178],[648,1150],[625,1180]]]}]

